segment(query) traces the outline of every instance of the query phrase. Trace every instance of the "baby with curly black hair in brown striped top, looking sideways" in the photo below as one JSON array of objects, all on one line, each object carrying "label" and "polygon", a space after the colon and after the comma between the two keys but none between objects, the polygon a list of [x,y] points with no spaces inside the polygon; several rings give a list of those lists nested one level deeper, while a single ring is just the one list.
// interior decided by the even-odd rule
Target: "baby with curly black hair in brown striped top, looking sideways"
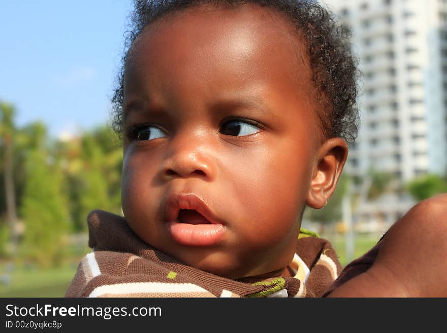
[{"label": "baby with curly black hair in brown striped top, looking sideways", "polygon": [[443,196],[414,207],[335,284],[330,244],[300,237],[304,208],[326,205],[358,127],[355,61],[328,11],[293,0],[135,8],[113,98],[124,218],[89,215],[94,252],[67,296],[446,294],[445,282],[421,283],[445,271],[446,241],[431,246],[445,226],[420,232]]}]

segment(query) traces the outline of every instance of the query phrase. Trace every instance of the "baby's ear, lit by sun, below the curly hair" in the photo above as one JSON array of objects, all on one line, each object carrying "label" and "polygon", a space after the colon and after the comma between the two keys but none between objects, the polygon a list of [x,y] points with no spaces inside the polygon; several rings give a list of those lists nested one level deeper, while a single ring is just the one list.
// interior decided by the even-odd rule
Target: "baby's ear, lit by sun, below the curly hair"
[{"label": "baby's ear, lit by sun, below the curly hair", "polygon": [[320,209],[326,206],[334,193],[341,170],[347,158],[347,144],[342,138],[330,138],[318,150],[314,166],[307,205]]}]

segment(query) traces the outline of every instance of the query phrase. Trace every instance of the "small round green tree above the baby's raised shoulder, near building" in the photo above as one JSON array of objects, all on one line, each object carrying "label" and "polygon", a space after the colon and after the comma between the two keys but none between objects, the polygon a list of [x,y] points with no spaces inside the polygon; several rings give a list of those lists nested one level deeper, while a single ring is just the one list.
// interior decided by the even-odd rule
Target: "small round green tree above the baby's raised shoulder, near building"
[{"label": "small round green tree above the baby's raised shoulder, near building", "polygon": [[407,189],[414,199],[422,201],[447,192],[447,181],[437,174],[427,174],[408,182]]}]

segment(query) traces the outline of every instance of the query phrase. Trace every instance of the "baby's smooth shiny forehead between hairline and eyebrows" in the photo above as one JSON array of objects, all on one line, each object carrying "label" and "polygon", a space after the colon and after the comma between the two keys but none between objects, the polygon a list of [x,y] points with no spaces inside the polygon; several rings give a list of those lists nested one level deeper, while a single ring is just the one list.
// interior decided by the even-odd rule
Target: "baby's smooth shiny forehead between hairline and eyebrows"
[{"label": "baby's smooth shiny forehead between hairline and eyebrows", "polygon": [[126,73],[132,68],[155,73],[175,67],[177,80],[192,70],[203,82],[210,76],[231,76],[235,84],[269,76],[276,77],[278,85],[308,89],[311,70],[306,53],[292,24],[271,9],[199,7],[148,25],[127,56]]}]

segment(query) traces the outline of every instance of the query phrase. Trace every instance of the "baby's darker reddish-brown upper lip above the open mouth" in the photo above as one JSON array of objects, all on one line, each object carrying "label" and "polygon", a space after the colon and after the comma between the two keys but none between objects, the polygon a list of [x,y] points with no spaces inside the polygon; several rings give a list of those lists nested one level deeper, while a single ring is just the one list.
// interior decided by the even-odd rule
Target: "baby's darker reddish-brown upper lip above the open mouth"
[{"label": "baby's darker reddish-brown upper lip above the open mouth", "polygon": [[202,214],[211,224],[223,224],[211,211],[209,206],[193,193],[173,193],[166,199],[165,216],[168,222],[176,221],[180,209],[196,210]]}]

